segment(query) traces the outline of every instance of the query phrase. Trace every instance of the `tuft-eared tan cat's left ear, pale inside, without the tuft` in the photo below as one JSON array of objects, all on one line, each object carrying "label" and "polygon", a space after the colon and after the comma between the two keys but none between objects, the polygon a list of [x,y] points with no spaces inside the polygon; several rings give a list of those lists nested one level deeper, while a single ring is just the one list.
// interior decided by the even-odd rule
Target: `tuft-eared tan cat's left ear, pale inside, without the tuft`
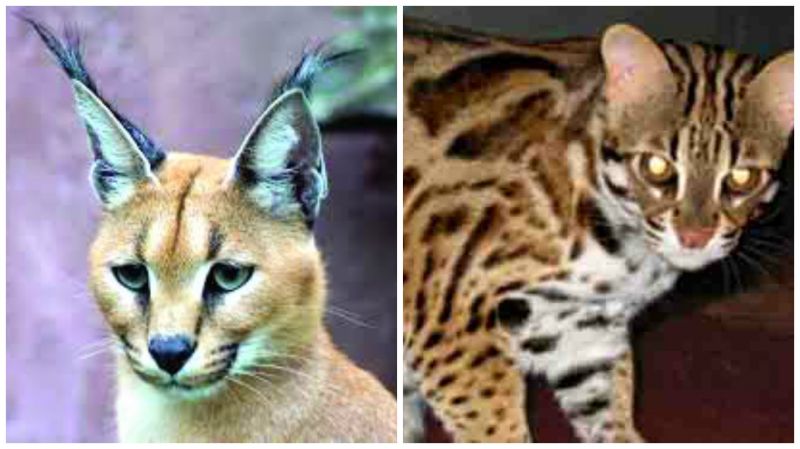
[{"label": "tuft-eared tan cat's left ear, pale inside, without the tuft", "polygon": [[75,106],[86,125],[95,161],[91,180],[109,209],[127,201],[140,182],[158,183],[150,163],[108,106],[80,81],[72,81]]}]

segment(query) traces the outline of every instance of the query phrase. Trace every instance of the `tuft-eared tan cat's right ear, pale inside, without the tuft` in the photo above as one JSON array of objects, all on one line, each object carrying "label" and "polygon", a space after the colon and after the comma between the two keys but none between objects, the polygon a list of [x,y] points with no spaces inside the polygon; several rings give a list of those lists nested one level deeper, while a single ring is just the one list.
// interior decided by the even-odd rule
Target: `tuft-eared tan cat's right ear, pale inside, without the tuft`
[{"label": "tuft-eared tan cat's right ear, pale inside, without the tuft", "polygon": [[234,158],[232,180],[261,208],[299,210],[313,224],[328,192],[322,138],[305,94],[292,89],[270,104]]}]

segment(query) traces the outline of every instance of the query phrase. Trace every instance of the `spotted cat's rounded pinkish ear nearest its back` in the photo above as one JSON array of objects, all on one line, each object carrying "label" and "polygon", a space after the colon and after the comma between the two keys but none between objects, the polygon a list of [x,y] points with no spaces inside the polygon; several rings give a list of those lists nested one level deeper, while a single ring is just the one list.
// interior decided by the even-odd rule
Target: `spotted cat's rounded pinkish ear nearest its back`
[{"label": "spotted cat's rounded pinkish ear nearest its back", "polygon": [[677,86],[664,53],[639,29],[612,25],[603,34],[600,52],[606,70],[605,96],[613,108],[675,97]]}]

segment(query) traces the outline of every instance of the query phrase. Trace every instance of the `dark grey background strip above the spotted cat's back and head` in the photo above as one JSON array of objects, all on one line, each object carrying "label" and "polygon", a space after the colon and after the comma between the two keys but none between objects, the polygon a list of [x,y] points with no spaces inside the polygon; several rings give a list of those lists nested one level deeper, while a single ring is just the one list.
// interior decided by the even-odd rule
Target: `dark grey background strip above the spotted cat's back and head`
[{"label": "dark grey background strip above the spotted cat's back and head", "polygon": [[745,53],[773,55],[794,43],[792,7],[429,7],[403,8],[406,17],[533,40],[600,36],[617,22],[658,39],[705,41]]}]

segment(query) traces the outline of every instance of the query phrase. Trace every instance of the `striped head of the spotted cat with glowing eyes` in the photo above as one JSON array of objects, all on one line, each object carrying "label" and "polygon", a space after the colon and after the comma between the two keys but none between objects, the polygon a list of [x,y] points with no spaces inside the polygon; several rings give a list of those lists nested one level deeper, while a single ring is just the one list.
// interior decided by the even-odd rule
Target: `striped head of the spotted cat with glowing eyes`
[{"label": "striped head of the spotted cat with glowing eyes", "polygon": [[724,258],[778,191],[793,130],[793,52],[762,68],[615,25],[601,54],[604,196],[676,268]]}]

